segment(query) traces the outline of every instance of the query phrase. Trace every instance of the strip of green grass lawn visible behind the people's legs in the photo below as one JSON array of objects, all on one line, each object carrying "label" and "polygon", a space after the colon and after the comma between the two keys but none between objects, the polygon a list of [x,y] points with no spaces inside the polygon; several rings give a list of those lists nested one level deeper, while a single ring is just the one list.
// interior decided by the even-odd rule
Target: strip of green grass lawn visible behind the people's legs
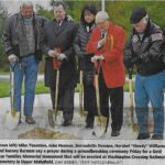
[{"label": "strip of green grass lawn visible behind the people's legs", "polygon": [[[23,87],[24,88],[24,87]],[[22,95],[24,94],[24,90],[22,88]],[[134,82],[133,82],[133,89],[134,89]],[[75,88],[75,91],[79,91],[78,87]],[[125,82],[124,85],[124,91],[129,91],[129,84]],[[36,87],[35,87],[35,94],[48,94],[50,92],[50,88],[44,87],[44,82],[43,81],[37,81]],[[0,82],[0,98],[3,97],[9,97],[10,95],[10,84],[9,81],[1,81]]]}]

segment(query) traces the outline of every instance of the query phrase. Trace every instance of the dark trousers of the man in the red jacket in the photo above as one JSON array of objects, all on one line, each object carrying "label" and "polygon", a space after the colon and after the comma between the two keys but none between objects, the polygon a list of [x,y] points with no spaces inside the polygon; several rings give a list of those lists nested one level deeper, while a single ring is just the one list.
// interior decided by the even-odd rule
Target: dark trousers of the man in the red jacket
[{"label": "dark trousers of the man in the red jacket", "polygon": [[101,113],[105,117],[109,117],[109,99],[111,103],[111,128],[112,130],[121,130],[123,123],[123,87],[107,88],[102,75],[102,70],[99,74],[99,88],[100,88],[100,107]]}]

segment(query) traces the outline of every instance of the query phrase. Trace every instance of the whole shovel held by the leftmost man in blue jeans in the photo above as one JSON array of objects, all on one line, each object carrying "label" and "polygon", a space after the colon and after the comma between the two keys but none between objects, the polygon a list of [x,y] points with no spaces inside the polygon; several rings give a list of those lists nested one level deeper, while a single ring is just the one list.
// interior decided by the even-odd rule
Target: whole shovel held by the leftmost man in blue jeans
[{"label": "whole shovel held by the leftmost man in blue jeans", "polygon": [[16,63],[10,64],[10,105],[11,105],[11,110],[7,112],[4,117],[4,127],[8,128],[9,130],[14,130],[20,120],[20,111],[14,110],[14,68],[15,68]]}]

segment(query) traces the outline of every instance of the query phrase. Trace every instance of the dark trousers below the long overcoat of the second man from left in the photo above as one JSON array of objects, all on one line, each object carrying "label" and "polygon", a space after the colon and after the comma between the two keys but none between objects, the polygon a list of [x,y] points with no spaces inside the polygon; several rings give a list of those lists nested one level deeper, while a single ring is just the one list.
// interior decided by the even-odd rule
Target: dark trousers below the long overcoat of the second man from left
[{"label": "dark trousers below the long overcoat of the second man from left", "polygon": [[[51,99],[53,108],[55,107],[55,88],[51,89]],[[58,110],[63,110],[64,120],[72,121],[74,117],[74,88],[59,89]]]}]

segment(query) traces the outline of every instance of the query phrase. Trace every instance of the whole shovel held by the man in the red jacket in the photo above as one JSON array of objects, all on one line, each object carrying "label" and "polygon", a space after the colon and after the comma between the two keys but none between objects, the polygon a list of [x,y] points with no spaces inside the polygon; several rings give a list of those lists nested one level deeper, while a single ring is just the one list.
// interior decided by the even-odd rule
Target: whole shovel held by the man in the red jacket
[{"label": "whole shovel held by the man in the red jacket", "polygon": [[97,100],[97,112],[98,116],[95,117],[95,123],[94,123],[94,132],[92,134],[101,138],[106,132],[107,132],[107,127],[108,127],[108,118],[103,117],[101,114],[101,109],[100,109],[100,91],[99,91],[99,67],[100,67],[100,62],[97,62],[97,68],[96,68],[96,74],[95,74],[95,84],[96,84],[96,100]]}]

